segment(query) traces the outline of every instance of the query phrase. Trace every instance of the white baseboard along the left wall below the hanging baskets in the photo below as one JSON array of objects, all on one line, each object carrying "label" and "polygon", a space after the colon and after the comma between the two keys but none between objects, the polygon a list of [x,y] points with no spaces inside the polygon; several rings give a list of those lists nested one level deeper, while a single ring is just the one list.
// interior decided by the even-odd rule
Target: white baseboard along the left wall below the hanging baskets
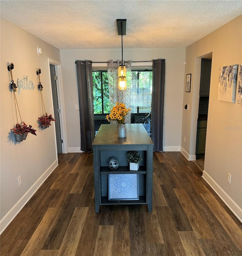
[{"label": "white baseboard along the left wall below the hanging baskets", "polygon": [[51,166],[38,178],[38,180],[29,188],[29,190],[19,199],[19,201],[9,210],[9,212],[2,218],[0,221],[0,234],[8,227],[8,225],[12,222],[12,220],[17,216],[17,214],[21,211],[23,206],[31,199],[34,193],[39,189],[39,187],[45,182],[45,180],[49,177],[51,172],[58,166],[57,159]]}]

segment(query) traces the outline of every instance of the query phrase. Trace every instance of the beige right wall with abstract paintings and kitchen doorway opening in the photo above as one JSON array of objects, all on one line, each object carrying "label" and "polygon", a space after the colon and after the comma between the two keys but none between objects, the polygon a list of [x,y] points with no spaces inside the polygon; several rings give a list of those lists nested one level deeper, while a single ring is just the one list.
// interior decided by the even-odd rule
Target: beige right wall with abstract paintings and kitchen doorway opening
[{"label": "beige right wall with abstract paintings and kitchen doorway opening", "polygon": [[[242,105],[217,100],[219,68],[242,63],[242,16],[237,17],[186,48],[185,74],[192,74],[191,93],[185,92],[183,105],[182,150],[195,155],[200,82],[200,57],[213,53],[209,94],[208,125],[203,177],[242,220]],[[236,89],[237,100],[237,89]],[[239,127],[229,130],[226,127]],[[231,184],[227,173],[231,174]]]}]

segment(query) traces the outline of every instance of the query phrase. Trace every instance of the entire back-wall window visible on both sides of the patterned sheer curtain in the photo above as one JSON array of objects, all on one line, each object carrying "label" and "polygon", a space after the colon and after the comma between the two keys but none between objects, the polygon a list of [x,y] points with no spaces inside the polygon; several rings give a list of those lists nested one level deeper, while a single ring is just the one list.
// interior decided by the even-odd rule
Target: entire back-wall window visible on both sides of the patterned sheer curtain
[{"label": "entire back-wall window visible on both sides of the patterned sheer curtain", "polygon": [[[137,67],[138,68],[138,67]],[[132,70],[130,86],[131,123],[143,123],[150,135],[152,99],[152,70]],[[110,113],[109,83],[106,70],[92,72],[95,131],[101,124],[110,124],[105,116]]]}]

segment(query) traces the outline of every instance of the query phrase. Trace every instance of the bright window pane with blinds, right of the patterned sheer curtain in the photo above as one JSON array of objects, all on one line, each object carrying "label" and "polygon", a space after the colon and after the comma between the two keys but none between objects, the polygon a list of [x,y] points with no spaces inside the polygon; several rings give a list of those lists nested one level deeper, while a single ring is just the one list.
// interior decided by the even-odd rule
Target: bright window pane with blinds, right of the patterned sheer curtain
[{"label": "bright window pane with blinds, right of the patterned sheer curtain", "polygon": [[132,71],[130,105],[133,113],[149,113],[152,98],[152,71]]}]

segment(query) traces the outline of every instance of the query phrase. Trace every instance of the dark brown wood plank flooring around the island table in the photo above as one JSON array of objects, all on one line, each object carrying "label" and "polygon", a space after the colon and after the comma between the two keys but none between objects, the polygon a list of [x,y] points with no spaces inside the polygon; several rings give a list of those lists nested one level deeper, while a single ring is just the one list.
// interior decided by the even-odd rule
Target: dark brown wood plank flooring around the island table
[{"label": "dark brown wood plank flooring around the island table", "polygon": [[153,211],[95,213],[93,155],[60,154],[0,237],[1,256],[242,256],[242,223],[180,152],[154,152]]}]

